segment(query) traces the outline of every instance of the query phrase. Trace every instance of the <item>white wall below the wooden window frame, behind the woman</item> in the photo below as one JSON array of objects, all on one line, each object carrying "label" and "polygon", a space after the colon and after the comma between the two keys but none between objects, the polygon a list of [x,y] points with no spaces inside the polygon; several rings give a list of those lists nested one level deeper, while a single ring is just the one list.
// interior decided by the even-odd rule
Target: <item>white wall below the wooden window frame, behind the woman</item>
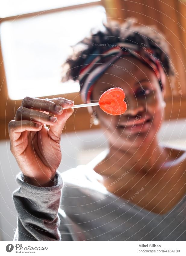
[{"label": "white wall below the wooden window frame, behind the woman", "polygon": [[[170,145],[175,144],[186,148],[185,119],[169,122],[168,128],[166,128],[167,123],[164,123],[159,132],[160,140]],[[8,140],[0,142],[0,240],[2,241],[12,241],[13,230],[17,226],[17,213],[12,200],[12,192],[18,188],[15,176],[20,169],[10,152],[9,145]],[[59,171],[63,172],[78,164],[88,163],[106,147],[106,138],[101,130],[64,133],[61,139],[62,162]]]}]

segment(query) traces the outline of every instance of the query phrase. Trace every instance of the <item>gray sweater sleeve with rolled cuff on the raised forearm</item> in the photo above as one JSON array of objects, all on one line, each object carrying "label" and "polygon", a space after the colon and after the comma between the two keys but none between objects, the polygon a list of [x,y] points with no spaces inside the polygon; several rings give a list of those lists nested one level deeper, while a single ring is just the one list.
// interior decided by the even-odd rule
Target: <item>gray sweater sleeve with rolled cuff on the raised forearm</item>
[{"label": "gray sweater sleeve with rolled cuff on the raised forearm", "polygon": [[60,172],[56,172],[52,187],[30,185],[24,181],[22,172],[17,174],[16,181],[20,187],[12,195],[18,213],[13,241],[61,241],[58,209],[63,180]]}]

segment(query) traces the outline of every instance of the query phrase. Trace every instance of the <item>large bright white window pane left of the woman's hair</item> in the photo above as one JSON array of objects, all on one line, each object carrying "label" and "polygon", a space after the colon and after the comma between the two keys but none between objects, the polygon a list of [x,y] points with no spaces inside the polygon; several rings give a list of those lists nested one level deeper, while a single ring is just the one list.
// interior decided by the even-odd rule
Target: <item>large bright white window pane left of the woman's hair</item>
[{"label": "large bright white window pane left of the woman's hair", "polygon": [[102,6],[5,21],[0,26],[8,95],[12,100],[77,92],[61,83],[61,64],[92,27],[106,21]]}]

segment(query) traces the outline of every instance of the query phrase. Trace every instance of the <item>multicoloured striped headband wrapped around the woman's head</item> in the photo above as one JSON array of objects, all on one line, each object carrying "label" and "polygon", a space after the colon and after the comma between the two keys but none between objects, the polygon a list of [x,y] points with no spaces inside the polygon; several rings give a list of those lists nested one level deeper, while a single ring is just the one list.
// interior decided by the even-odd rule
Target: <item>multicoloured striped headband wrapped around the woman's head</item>
[{"label": "multicoloured striped headband wrapped around the woman's head", "polygon": [[153,50],[146,48],[148,53],[147,51],[144,51],[144,55],[142,56],[138,49],[139,46],[134,44],[117,43],[114,47],[111,47],[103,53],[99,53],[99,50],[96,49],[91,55],[87,55],[88,57],[78,77],[82,101],[84,103],[91,102],[90,96],[94,83],[102,76],[102,74],[104,74],[106,69],[109,68],[106,60],[109,60],[109,64],[113,64],[123,56],[134,56],[145,65],[153,69],[159,79],[161,90],[163,90],[165,85],[165,74],[162,65],[153,57]]}]

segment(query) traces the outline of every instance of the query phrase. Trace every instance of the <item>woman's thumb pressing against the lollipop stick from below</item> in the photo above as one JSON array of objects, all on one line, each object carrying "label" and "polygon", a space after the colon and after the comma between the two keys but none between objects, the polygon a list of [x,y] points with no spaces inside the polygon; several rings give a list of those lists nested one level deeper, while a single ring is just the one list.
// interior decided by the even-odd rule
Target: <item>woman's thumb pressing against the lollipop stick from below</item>
[{"label": "woman's thumb pressing against the lollipop stick from below", "polygon": [[49,137],[56,142],[60,142],[61,140],[61,132],[65,126],[67,119],[74,113],[74,109],[63,109],[63,113],[61,115],[54,115],[57,117],[57,121],[54,125],[51,125],[49,128]]}]

